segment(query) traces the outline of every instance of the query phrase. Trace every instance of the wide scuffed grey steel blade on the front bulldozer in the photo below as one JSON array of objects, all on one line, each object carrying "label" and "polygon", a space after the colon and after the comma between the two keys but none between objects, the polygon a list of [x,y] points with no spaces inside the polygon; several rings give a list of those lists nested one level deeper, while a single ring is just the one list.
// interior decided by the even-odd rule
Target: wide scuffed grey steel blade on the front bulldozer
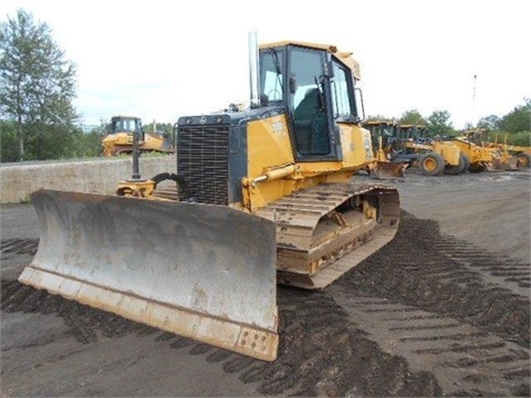
[{"label": "wide scuffed grey steel blade on the front bulldozer", "polygon": [[225,206],[39,190],[19,280],[263,360],[278,349],[273,222]]}]

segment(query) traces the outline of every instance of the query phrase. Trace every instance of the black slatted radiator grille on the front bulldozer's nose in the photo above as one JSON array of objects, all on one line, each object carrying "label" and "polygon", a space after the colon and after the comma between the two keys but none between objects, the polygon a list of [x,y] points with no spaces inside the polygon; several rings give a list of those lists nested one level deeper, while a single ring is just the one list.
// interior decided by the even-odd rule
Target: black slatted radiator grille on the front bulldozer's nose
[{"label": "black slatted radiator grille on the front bulldozer's nose", "polygon": [[177,172],[192,200],[228,205],[229,125],[179,126]]}]

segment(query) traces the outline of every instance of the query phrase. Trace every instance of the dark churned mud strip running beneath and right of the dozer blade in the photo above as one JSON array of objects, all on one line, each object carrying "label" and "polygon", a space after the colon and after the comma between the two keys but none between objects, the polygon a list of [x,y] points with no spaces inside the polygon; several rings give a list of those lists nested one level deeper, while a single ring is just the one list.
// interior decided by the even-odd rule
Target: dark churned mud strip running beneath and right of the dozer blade
[{"label": "dark churned mud strip running beneath and right of the dozer blade", "polygon": [[239,374],[243,383],[256,383],[263,395],[440,396],[431,374],[414,374],[404,358],[384,353],[325,292],[279,287],[279,357],[264,363],[86,307],[18,281],[1,283],[2,311],[53,313],[64,320],[69,334],[84,344],[96,342],[100,334],[154,335],[170,348],[187,349],[188,355],[204,355],[206,362],[219,363],[225,371]]}]

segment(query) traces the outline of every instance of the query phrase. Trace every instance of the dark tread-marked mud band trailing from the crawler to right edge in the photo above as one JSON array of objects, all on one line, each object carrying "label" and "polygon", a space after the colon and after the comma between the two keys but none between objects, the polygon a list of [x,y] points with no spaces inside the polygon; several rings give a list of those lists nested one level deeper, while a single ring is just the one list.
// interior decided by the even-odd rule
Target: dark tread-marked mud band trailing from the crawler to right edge
[{"label": "dark tread-marked mud band trailing from the crawler to right edge", "polygon": [[[403,212],[400,222],[393,242],[334,285],[441,313],[529,348],[531,290],[510,277],[493,277],[489,270],[529,272],[530,264],[494,258],[481,261],[486,253],[477,251],[472,268],[452,259],[455,254],[447,245],[450,238],[441,239],[437,222],[418,220],[407,212]],[[439,247],[439,242],[444,244]],[[473,247],[469,245],[467,252],[472,263]]]}]

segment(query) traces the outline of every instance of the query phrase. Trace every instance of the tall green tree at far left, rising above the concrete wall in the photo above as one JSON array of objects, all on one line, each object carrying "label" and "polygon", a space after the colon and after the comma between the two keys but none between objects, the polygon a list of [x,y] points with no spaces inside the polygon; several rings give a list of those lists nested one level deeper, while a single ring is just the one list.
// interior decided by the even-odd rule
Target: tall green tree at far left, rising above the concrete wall
[{"label": "tall green tree at far left, rising above the concrete wall", "polygon": [[18,160],[56,158],[75,147],[75,77],[45,23],[19,9],[0,24],[0,119],[17,123]]}]

